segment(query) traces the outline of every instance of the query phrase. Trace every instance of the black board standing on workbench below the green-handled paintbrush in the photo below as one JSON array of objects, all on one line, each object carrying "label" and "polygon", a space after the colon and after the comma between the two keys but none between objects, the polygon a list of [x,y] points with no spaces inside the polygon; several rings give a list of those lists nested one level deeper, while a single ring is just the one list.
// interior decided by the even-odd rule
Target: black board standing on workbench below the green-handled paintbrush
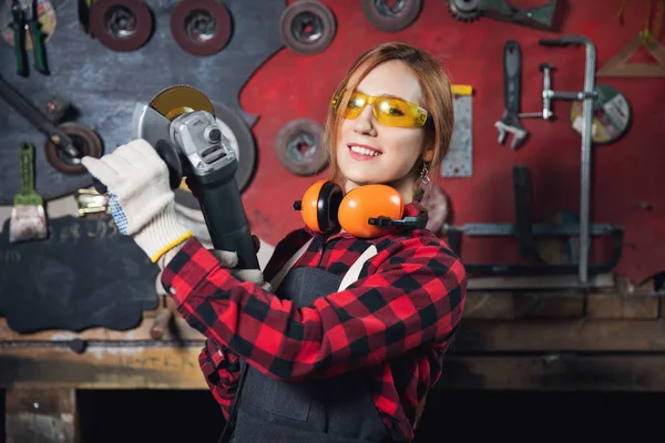
[{"label": "black board standing on workbench below the green-handled paintbrush", "polygon": [[9,243],[0,234],[0,316],[18,332],[126,330],[157,308],[158,274],[111,218],[49,220],[49,238]]}]

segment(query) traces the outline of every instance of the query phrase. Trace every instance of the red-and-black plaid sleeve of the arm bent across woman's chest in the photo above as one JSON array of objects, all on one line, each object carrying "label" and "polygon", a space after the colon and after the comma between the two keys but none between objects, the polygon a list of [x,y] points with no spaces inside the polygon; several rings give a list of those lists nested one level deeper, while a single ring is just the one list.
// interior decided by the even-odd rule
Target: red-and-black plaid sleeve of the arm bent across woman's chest
[{"label": "red-and-black plaid sleeve of the arm bent across woman's chest", "polygon": [[190,326],[278,380],[332,377],[418,347],[447,349],[462,316],[467,276],[440,241],[413,237],[381,250],[346,290],[297,308],[236,279],[192,238],[162,274]]}]

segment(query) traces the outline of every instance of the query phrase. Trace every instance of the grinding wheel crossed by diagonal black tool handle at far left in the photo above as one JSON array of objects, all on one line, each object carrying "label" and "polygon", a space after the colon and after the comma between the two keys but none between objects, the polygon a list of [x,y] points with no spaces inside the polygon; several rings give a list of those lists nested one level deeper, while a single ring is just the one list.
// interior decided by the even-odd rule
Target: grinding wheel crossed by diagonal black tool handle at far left
[{"label": "grinding wheel crossed by diagonal black tool handle at far left", "polygon": [[[89,155],[95,158],[102,156],[102,142],[90,127],[76,122],[65,122],[60,124],[58,128],[71,137],[73,145],[83,156]],[[72,158],[62,153],[50,138],[47,138],[44,142],[44,153],[47,162],[63,174],[88,173],[88,169],[81,164],[80,159]]]}]

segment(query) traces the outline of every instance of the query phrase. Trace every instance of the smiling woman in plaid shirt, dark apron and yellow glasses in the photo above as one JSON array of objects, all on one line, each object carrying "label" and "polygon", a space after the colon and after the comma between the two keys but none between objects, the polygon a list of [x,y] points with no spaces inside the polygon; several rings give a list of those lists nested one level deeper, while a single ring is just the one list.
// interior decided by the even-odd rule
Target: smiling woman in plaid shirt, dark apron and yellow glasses
[{"label": "smiling woman in plaid shirt, dark apron and yellow glasses", "polygon": [[[334,94],[326,124],[334,179],[346,193],[387,184],[405,216],[417,217],[452,123],[439,64],[407,44],[380,44]],[[263,276],[252,275],[232,270],[233,253],[211,254],[177,224],[166,167],[146,142],[83,164],[114,195],[121,230],[160,264],[178,311],[206,337],[201,368],[226,418],[247,368],[235,442],[413,439],[467,292],[463,266],[433,233],[358,238],[305,227],[277,245]]]}]

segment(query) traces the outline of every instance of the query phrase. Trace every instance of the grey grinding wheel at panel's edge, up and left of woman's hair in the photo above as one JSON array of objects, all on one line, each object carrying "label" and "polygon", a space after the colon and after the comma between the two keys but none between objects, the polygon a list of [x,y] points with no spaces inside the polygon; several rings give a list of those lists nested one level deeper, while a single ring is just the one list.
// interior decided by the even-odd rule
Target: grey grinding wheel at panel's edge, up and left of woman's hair
[{"label": "grey grinding wheel at panel's edge, up and left of woman's hair", "polygon": [[284,44],[299,54],[316,54],[330,45],[337,23],[325,4],[316,0],[299,0],[288,6],[279,19]]}]

